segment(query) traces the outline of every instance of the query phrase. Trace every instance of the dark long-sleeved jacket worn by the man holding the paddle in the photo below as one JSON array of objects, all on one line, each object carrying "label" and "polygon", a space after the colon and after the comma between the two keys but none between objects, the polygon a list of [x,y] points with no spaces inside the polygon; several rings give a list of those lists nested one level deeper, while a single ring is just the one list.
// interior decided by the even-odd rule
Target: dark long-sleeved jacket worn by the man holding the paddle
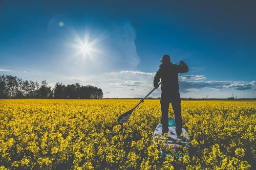
[{"label": "dark long-sleeved jacket worn by the man holding the paddle", "polygon": [[177,91],[179,90],[178,74],[188,71],[187,65],[182,62],[180,65],[172,62],[164,62],[159,66],[159,69],[154,78],[154,85],[160,81],[162,91]]}]

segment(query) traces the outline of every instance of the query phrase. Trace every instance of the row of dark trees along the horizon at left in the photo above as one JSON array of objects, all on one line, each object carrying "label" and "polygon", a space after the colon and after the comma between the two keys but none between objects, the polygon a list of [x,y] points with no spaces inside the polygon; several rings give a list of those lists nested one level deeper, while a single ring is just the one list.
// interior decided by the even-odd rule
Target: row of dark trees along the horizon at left
[{"label": "row of dark trees along the horizon at left", "polygon": [[102,99],[103,92],[92,85],[64,85],[57,82],[53,89],[46,80],[40,84],[16,76],[0,76],[0,99]]}]

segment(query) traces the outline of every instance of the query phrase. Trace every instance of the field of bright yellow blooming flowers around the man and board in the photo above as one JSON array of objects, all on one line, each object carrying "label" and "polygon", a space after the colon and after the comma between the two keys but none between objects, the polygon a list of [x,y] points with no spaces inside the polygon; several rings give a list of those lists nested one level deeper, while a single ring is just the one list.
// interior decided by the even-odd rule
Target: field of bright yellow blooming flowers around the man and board
[{"label": "field of bright yellow blooming flowers around the man and board", "polygon": [[159,100],[145,100],[118,125],[138,102],[0,100],[0,169],[254,168],[255,101],[182,101],[191,148],[179,159],[164,158],[153,142]]}]

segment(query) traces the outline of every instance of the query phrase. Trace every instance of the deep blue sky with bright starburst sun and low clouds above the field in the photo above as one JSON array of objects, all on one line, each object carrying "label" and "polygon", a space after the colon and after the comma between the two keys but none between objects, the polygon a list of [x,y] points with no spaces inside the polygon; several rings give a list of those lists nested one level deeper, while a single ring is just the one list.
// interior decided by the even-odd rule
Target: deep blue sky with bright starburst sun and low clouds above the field
[{"label": "deep blue sky with bright starburst sun and low clouds above the field", "polygon": [[[1,1],[0,74],[143,97],[161,56],[183,98],[256,98],[253,1]],[[160,89],[151,96],[158,97]]]}]

